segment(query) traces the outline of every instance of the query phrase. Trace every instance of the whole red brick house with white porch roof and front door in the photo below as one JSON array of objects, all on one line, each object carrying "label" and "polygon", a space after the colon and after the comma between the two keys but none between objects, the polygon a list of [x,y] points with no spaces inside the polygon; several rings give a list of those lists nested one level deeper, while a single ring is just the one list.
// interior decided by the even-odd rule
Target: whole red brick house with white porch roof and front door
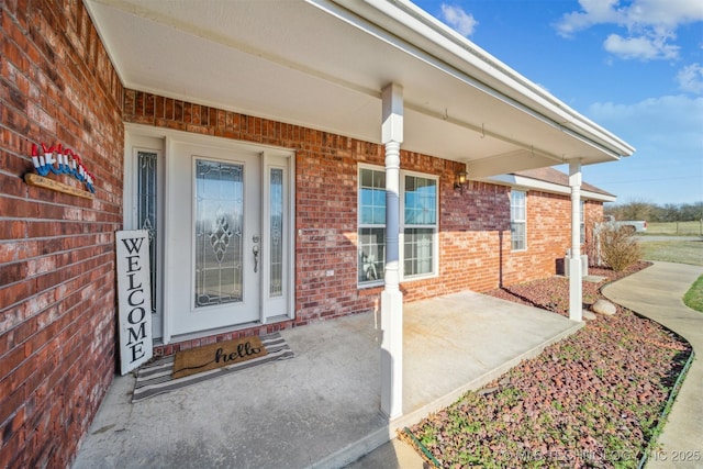
[{"label": "whole red brick house with white porch roof and front door", "polygon": [[0,467],[69,465],[112,381],[115,232],[157,354],[380,310],[397,369],[403,302],[554,275],[634,152],[411,3],[1,9]]}]

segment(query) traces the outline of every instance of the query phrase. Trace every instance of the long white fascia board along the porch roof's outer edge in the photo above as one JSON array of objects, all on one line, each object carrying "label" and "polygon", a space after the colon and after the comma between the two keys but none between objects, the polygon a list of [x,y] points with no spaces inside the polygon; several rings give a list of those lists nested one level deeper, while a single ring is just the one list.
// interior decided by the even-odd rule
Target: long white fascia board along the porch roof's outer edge
[{"label": "long white fascia board along the porch roof's outer edge", "polygon": [[[440,68],[448,67],[460,71],[468,85],[477,87],[546,124],[553,125],[572,137],[599,148],[613,159],[618,159],[621,156],[629,156],[635,152],[635,148],[623,139],[576,112],[537,85],[517,74],[409,1],[306,1],[331,14],[344,18],[346,21],[353,21],[353,14],[357,15],[364,21],[355,23],[355,25],[362,30],[368,26],[366,22],[370,22],[378,27],[391,20],[393,22],[392,33],[402,40],[402,42],[423,51],[437,63],[442,63],[435,64],[439,65]],[[372,31],[369,32],[375,34]],[[420,38],[423,38],[425,44],[421,44]],[[399,41],[397,45],[402,47],[403,44]],[[435,47],[428,47],[431,45]],[[431,51],[431,48],[435,51]],[[436,51],[437,48],[438,51]],[[442,65],[444,65],[444,67],[442,67]],[[477,70],[490,77],[493,83],[479,81],[473,78]],[[507,94],[499,91],[499,88],[507,88],[514,92]]]}]

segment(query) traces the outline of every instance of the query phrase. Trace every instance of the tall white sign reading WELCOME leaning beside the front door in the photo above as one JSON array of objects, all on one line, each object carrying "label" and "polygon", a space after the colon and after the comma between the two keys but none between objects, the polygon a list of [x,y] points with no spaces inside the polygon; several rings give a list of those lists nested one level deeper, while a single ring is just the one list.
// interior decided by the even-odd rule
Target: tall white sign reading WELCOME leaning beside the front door
[{"label": "tall white sign reading WELCOME leaning beside the front door", "polygon": [[115,243],[120,364],[122,375],[126,375],[153,355],[148,231],[116,232]]}]

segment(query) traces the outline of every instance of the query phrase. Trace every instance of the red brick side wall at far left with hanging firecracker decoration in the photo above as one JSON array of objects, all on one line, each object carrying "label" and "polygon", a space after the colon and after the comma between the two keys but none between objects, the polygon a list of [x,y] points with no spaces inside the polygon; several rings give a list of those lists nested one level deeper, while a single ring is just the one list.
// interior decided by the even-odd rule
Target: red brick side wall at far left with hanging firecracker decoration
[{"label": "red brick side wall at far left with hanging firecracker decoration", "polygon": [[[122,88],[81,1],[0,21],[0,467],[67,467],[114,376]],[[27,186],[32,143],[79,154],[96,198]]]}]

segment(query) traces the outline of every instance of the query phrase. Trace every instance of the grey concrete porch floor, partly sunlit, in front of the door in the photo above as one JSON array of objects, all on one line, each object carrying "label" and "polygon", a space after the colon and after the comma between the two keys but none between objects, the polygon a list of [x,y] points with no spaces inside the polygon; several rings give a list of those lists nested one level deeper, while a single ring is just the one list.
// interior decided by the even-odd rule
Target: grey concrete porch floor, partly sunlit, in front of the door
[{"label": "grey concrete porch floor, partly sunlit, in front of the door", "polygon": [[[404,305],[403,413],[380,413],[380,317],[281,332],[295,358],[132,404],[115,377],[74,468],[341,468],[583,324],[473,292]],[[400,467],[392,445],[382,465]]]}]

